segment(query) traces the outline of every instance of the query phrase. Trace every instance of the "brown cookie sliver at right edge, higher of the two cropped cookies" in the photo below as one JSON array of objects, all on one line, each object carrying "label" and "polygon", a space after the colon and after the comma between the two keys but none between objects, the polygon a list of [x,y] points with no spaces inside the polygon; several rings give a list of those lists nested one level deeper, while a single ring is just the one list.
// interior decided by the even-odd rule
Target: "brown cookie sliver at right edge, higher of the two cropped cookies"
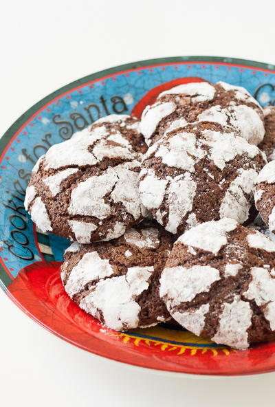
[{"label": "brown cookie sliver at right edge, higher of the two cropped cookies", "polygon": [[267,155],[267,161],[275,159],[275,106],[263,107],[265,116],[265,137],[259,148]]}]

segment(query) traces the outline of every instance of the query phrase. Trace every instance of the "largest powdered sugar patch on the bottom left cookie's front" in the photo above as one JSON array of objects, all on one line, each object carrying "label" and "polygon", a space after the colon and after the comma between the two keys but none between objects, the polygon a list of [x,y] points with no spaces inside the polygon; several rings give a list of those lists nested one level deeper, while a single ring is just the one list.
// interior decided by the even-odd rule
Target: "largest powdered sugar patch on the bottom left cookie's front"
[{"label": "largest powdered sugar patch on the bottom left cookie's front", "polygon": [[153,267],[131,267],[125,276],[100,281],[80,302],[89,314],[102,314],[105,324],[117,331],[137,327],[140,305],[135,297],[148,288]]}]

